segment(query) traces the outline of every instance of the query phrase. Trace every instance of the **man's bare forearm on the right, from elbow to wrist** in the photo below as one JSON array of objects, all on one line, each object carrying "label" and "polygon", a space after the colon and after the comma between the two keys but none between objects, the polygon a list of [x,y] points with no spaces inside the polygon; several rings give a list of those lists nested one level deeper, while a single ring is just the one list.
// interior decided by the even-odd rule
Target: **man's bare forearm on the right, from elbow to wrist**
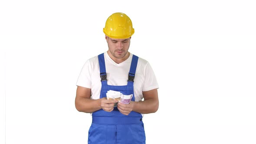
[{"label": "man's bare forearm on the right, from elbow to wrist", "polygon": [[158,111],[158,99],[147,99],[144,101],[131,101],[133,103],[133,110],[141,114],[149,114]]}]

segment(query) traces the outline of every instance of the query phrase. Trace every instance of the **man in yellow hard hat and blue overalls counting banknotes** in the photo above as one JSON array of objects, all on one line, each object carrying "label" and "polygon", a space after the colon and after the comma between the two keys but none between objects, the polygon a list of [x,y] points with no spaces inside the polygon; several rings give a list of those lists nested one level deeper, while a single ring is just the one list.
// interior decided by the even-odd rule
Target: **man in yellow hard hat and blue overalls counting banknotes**
[{"label": "man in yellow hard hat and blue overalls counting banknotes", "polygon": [[[150,64],[128,52],[127,15],[113,13],[103,32],[108,51],[85,62],[76,84],[76,109],[92,115],[88,144],[145,144],[142,117],[158,110],[158,82]],[[106,98],[109,91],[132,96],[130,103]]]}]

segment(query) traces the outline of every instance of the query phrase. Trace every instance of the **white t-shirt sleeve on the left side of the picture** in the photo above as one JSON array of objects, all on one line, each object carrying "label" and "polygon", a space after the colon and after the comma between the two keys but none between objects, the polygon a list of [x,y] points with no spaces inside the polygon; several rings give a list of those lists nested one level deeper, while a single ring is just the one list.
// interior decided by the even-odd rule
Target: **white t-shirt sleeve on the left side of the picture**
[{"label": "white t-shirt sleeve on the left side of the picture", "polygon": [[79,74],[76,85],[82,86],[85,88],[91,88],[92,87],[91,73],[92,73],[91,62],[90,62],[90,60],[87,60],[82,67],[82,70]]}]

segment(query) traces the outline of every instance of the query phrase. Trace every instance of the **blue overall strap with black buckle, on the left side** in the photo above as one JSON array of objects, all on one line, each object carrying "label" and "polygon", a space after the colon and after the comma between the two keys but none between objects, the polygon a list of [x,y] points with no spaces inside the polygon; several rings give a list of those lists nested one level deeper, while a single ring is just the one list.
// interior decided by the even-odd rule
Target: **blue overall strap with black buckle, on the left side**
[{"label": "blue overall strap with black buckle, on the left side", "polygon": [[107,73],[106,73],[104,53],[98,55],[98,63],[99,63],[100,78],[101,78],[102,85],[107,85]]}]

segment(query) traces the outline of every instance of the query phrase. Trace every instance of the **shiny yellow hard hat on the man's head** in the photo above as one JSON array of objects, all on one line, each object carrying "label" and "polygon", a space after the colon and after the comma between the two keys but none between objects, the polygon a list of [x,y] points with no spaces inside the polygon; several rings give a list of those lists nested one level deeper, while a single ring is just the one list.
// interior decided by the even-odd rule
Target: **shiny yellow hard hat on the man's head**
[{"label": "shiny yellow hard hat on the man's head", "polygon": [[125,13],[113,13],[108,17],[103,32],[113,39],[127,39],[134,34],[134,28]]}]

